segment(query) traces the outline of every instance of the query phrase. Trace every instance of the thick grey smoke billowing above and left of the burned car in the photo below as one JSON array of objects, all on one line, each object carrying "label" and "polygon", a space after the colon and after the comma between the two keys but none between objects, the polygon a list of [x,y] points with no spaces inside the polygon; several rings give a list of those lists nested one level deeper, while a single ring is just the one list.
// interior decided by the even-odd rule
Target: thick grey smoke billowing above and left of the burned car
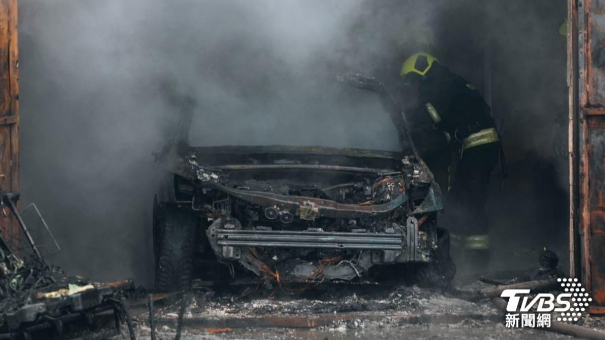
[{"label": "thick grey smoke billowing above and left of the burned car", "polygon": [[[519,33],[499,15],[502,6],[478,4],[19,2],[22,192],[42,208],[64,246],[53,261],[98,280],[134,276],[151,283],[151,202],[160,175],[152,152],[173,137],[183,100],[195,112],[194,145],[396,149],[388,117],[367,114],[376,109],[375,98],[330,77],[360,72],[396,93],[402,60],[425,37],[443,64],[483,90],[487,31],[479,27],[498,37],[493,53],[509,51]],[[506,18],[540,19],[535,7]],[[564,3],[561,8],[562,19]],[[520,6],[505,9],[523,13]],[[494,28],[500,24],[509,31]],[[544,29],[556,34],[557,27]],[[518,44],[531,39],[535,34]],[[506,120],[503,103],[520,93],[508,84],[527,79],[512,81],[506,77],[512,62],[495,60],[502,69],[494,70],[494,77],[501,74],[493,83],[494,102],[500,100],[494,113]],[[537,67],[532,77],[550,67]],[[497,90],[506,94],[498,97]],[[524,99],[529,103],[521,106],[533,110],[545,95]],[[517,116],[505,122],[509,130]],[[525,154],[527,148],[515,143],[514,149]]]}]

